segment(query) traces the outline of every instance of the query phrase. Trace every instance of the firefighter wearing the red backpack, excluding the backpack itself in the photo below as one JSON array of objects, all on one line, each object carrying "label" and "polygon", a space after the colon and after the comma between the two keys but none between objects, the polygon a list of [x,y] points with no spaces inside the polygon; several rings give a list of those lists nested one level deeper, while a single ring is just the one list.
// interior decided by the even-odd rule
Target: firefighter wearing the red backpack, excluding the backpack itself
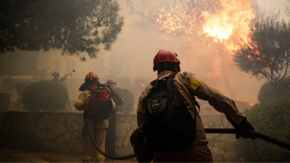
[{"label": "firefighter wearing the red backpack, excluding the backpack itself", "polygon": [[[96,73],[89,72],[86,75],[85,83],[80,86],[80,91],[82,93],[76,99],[75,108],[79,111],[84,110],[86,98],[90,96],[90,88],[94,84],[99,84],[99,78]],[[97,162],[104,162],[104,155],[100,154],[97,150],[94,150],[93,142],[89,138],[88,133],[91,138],[94,139],[94,143],[102,151],[105,150],[105,136],[106,130],[109,126],[108,119],[95,121],[90,118],[84,118],[84,123],[86,126],[83,131],[83,162],[93,162],[95,159]]]}]

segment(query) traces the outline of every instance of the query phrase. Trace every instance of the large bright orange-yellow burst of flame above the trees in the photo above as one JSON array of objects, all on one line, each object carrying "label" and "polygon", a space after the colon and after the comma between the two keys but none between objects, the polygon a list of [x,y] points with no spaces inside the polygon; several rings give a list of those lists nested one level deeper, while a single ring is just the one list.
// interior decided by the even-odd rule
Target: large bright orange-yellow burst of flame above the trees
[{"label": "large bright orange-yellow burst of flame above the trees", "polygon": [[248,42],[251,20],[255,18],[249,0],[223,0],[221,9],[210,14],[202,12],[202,29],[207,37],[222,42],[229,51],[239,48],[240,42]]}]

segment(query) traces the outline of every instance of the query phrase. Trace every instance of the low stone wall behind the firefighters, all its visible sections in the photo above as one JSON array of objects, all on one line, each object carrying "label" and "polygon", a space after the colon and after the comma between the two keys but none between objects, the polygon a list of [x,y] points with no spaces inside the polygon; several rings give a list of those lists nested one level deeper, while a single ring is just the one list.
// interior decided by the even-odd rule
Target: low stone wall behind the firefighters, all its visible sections
[{"label": "low stone wall behind the firefighters, all its visible sections", "polygon": [[[201,115],[205,128],[231,128],[224,115]],[[137,127],[136,115],[117,114],[118,155],[133,153],[129,137]],[[0,145],[43,152],[81,154],[81,113],[3,112],[0,115]],[[215,162],[244,162],[234,152],[235,135],[207,134]]]}]

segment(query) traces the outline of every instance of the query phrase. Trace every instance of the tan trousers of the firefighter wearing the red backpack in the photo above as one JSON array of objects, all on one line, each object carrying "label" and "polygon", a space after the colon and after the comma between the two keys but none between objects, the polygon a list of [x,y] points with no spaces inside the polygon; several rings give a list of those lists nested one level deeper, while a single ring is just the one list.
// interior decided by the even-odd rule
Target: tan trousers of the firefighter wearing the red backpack
[{"label": "tan trousers of the firefighter wearing the red backpack", "polygon": [[[106,127],[97,127],[96,133],[94,129],[94,121],[87,118],[87,125],[89,128],[89,133],[92,139],[95,141],[96,146],[105,151],[105,138],[106,138]],[[93,162],[94,158],[97,162],[104,162],[105,156],[98,152],[94,145],[92,144],[91,139],[89,138],[88,132],[84,131],[84,142],[83,142],[83,162]]]}]

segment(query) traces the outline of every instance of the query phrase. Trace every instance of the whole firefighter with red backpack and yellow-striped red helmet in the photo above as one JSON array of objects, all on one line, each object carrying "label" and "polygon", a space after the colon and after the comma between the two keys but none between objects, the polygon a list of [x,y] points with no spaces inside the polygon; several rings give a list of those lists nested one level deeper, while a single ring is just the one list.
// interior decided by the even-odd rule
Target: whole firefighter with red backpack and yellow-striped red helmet
[{"label": "whole firefighter with red backpack and yellow-striped red helmet", "polygon": [[[99,86],[99,87],[97,87]],[[80,91],[82,91],[82,93],[80,94],[80,96],[78,97],[78,99],[76,100],[75,103],[75,108],[77,110],[84,110],[84,129],[83,129],[83,137],[84,137],[84,142],[83,142],[83,162],[93,162],[96,161],[97,162],[104,162],[104,155],[100,154],[97,150],[94,150],[94,146],[92,143],[95,143],[96,146],[98,146],[99,149],[101,149],[102,151],[105,150],[105,136],[106,136],[106,130],[108,128],[108,116],[109,116],[109,112],[107,112],[107,117],[102,118],[103,120],[98,120],[98,119],[92,119],[90,117],[87,117],[88,114],[90,114],[90,110],[91,106],[88,107],[90,101],[88,101],[88,99],[91,99],[92,96],[94,96],[94,94],[92,94],[92,88],[98,88],[98,91],[100,87],[102,87],[102,90],[105,90],[105,92],[102,92],[100,94],[104,95],[110,95],[110,89],[107,89],[103,86],[100,85],[99,83],[99,78],[98,75],[93,73],[93,72],[89,72],[86,75],[86,79],[85,79],[85,83],[83,83],[80,86]],[[111,99],[110,99],[111,100]],[[99,103],[99,102],[97,102]],[[115,108],[115,103],[113,101],[111,101],[111,108],[114,109]],[[104,105],[102,105],[102,108],[106,108]],[[100,112],[97,112],[97,114],[102,114]],[[88,133],[90,134],[91,138],[93,139],[94,142],[91,141]]]}]

